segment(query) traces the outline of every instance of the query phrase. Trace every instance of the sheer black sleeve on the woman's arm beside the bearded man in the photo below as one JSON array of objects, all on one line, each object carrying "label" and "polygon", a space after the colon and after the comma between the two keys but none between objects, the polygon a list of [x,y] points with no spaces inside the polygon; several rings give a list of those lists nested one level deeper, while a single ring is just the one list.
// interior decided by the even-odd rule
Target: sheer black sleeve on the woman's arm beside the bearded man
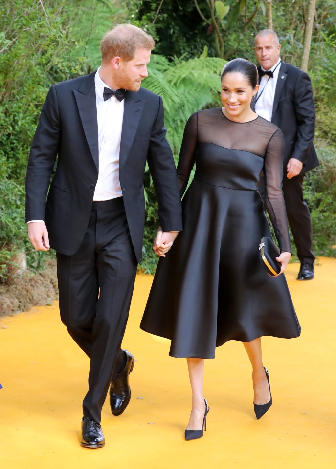
[{"label": "sheer black sleeve on the woman's arm beside the bearded man", "polygon": [[197,146],[197,120],[197,112],[189,117],[184,128],[183,140],[179,152],[177,176],[181,197],[186,190],[190,173],[195,163],[195,150]]}]

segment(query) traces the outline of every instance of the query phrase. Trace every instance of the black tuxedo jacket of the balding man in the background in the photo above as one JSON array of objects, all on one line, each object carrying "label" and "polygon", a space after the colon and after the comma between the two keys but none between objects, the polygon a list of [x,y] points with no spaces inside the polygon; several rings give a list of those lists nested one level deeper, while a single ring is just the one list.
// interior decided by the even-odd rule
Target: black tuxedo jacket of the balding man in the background
[{"label": "black tuxedo jacket of the balding man in the background", "polygon": [[[258,71],[260,69],[259,66]],[[303,163],[301,174],[318,165],[313,145],[315,106],[312,83],[307,73],[285,62],[280,65],[271,122],[284,134],[284,174],[290,158]]]}]

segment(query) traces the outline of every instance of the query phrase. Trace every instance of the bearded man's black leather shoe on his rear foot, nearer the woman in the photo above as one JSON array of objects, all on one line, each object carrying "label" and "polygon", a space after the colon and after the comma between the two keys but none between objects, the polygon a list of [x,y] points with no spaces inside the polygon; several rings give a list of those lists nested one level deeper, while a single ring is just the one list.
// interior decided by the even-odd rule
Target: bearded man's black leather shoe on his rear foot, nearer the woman
[{"label": "bearded man's black leather shoe on his rear foot, nearer the woman", "polygon": [[129,374],[133,371],[134,356],[128,350],[126,353],[126,365],[124,371],[117,375],[115,381],[111,382],[110,405],[113,415],[121,415],[131,399],[131,389],[128,382]]}]

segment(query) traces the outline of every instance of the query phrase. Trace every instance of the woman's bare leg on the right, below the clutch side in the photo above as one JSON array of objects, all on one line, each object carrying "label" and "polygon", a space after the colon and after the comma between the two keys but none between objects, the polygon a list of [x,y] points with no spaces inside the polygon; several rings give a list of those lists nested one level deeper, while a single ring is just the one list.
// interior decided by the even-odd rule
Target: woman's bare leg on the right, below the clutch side
[{"label": "woman's bare leg on the right, below the clutch side", "polygon": [[269,383],[263,367],[261,339],[258,337],[251,342],[243,342],[248,358],[252,365],[252,381],[255,404],[266,404],[270,400]]}]

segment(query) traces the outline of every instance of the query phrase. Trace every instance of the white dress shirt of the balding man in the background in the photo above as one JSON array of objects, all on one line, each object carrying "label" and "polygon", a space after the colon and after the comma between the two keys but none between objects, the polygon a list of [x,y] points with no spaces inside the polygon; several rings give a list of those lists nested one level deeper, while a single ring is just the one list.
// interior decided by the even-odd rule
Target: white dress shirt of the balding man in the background
[{"label": "white dress shirt of the balding man in the background", "polygon": [[[275,87],[279,76],[280,62],[281,60],[279,59],[278,62],[273,65],[272,68],[270,68],[270,71],[273,72],[273,78],[269,77],[268,75],[261,77],[256,103],[254,106],[255,112],[269,122],[272,120]],[[263,67],[261,67],[261,69],[265,70]]]}]

